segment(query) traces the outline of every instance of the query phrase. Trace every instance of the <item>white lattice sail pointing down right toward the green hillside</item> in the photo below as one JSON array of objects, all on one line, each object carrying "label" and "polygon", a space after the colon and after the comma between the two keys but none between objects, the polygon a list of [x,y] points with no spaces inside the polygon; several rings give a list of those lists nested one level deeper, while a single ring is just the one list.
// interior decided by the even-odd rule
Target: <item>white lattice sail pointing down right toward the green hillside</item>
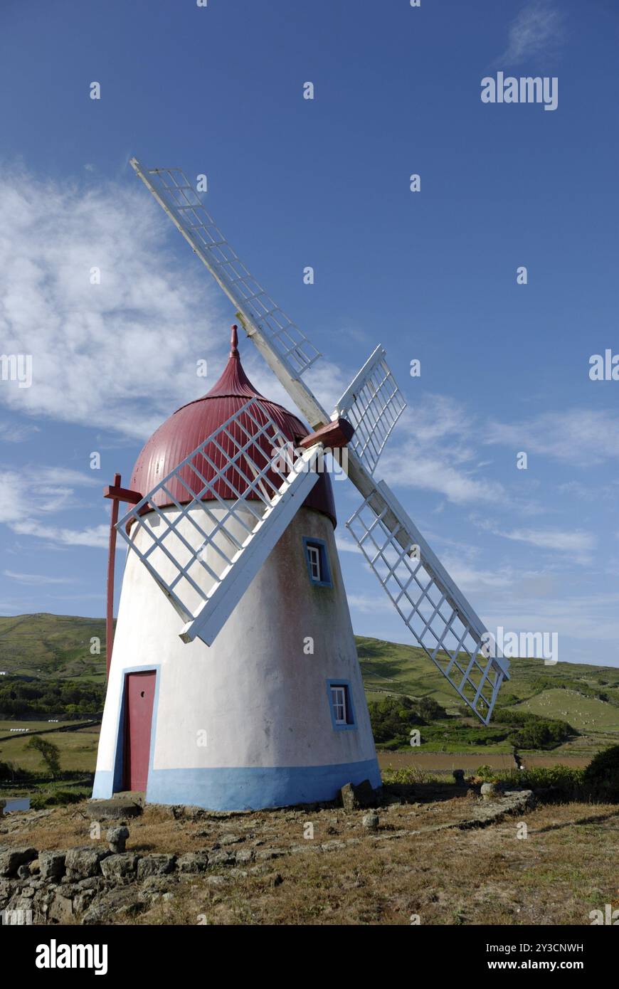
[{"label": "white lattice sail pointing down right toward the green hillside", "polygon": [[[487,724],[508,662],[488,652],[486,628],[384,482],[346,523],[404,624]],[[378,511],[377,511],[378,507]],[[484,652],[483,652],[484,651]]]}]

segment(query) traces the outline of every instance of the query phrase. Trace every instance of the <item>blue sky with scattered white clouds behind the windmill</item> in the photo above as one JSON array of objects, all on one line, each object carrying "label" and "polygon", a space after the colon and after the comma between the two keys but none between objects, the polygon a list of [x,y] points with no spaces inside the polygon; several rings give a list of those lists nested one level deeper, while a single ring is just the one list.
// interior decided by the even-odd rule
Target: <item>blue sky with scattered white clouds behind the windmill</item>
[{"label": "blue sky with scattered white clouds behind the windmill", "polygon": [[[134,154],[208,175],[208,209],[324,355],[323,405],[387,348],[408,409],[379,474],[490,630],[618,665],[619,383],[588,376],[619,352],[618,36],[611,0],[5,0],[0,337],[33,384],[0,381],[0,613],[104,614],[101,489],[224,360],[232,310]],[[557,110],[483,104],[498,70],[556,76]],[[355,631],[409,641],[335,488]]]}]

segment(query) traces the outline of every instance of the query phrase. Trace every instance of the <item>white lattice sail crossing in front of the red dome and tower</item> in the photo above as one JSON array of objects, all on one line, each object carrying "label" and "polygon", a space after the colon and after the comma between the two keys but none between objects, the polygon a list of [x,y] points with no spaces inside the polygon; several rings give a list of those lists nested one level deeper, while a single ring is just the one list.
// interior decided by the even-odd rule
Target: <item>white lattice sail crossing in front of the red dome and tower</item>
[{"label": "white lattice sail crossing in front of the red dome and tower", "polygon": [[319,474],[322,446],[289,439],[250,400],[137,502],[117,529],[184,619],[211,645]]}]

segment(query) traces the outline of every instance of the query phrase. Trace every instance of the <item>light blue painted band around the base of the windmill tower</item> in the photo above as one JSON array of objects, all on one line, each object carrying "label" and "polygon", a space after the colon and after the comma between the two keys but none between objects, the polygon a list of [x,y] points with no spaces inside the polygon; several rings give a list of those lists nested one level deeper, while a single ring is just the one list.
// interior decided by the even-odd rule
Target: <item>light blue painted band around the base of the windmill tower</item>
[{"label": "light blue painted band around the base of the windmill tower", "polygon": [[[333,800],[345,783],[381,785],[376,759],[334,765],[151,769],[147,803],[189,804],[207,810],[260,810]],[[113,773],[97,772],[93,797],[112,796]]]}]

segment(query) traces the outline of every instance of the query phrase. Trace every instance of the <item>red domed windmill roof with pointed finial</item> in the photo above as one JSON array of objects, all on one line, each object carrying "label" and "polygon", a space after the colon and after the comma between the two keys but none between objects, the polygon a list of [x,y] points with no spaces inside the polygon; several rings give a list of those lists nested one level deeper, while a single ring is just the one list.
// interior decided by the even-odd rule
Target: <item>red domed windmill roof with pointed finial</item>
[{"label": "red domed windmill roof with pointed finial", "polygon": [[[234,326],[232,328],[230,355],[220,380],[213,386],[208,395],[187,405],[181,405],[155,430],[135,461],[131,483],[132,490],[141,494],[152,491],[155,485],[170,471],[173,471],[201,443],[204,443],[218,426],[221,426],[230,415],[242,408],[249,399],[257,399],[258,406],[273,419],[284,435],[295,445],[298,445],[304,436],[309,435],[310,430],[296,415],[287,411],[282,405],[269,402],[259,392],[256,392],[241,367],[237,349],[236,327]],[[256,429],[249,417],[243,424],[250,431]],[[210,445],[206,452],[218,466],[222,466],[221,452],[214,444]],[[210,477],[213,477],[213,472],[210,472]],[[192,487],[192,491],[198,492],[200,490],[198,479],[193,472],[188,472],[186,480]],[[223,485],[223,488],[225,490],[218,489],[218,494],[221,497],[235,496],[226,489],[226,486]],[[176,479],[170,483],[170,494],[179,503],[189,500],[186,489]],[[209,495],[206,497],[208,498]],[[163,493],[158,493],[155,500],[160,507],[173,504],[172,501],[166,499]],[[336,524],[333,490],[328,474],[320,475],[306,498],[305,504],[309,508],[314,508],[328,515],[333,525]]]}]

